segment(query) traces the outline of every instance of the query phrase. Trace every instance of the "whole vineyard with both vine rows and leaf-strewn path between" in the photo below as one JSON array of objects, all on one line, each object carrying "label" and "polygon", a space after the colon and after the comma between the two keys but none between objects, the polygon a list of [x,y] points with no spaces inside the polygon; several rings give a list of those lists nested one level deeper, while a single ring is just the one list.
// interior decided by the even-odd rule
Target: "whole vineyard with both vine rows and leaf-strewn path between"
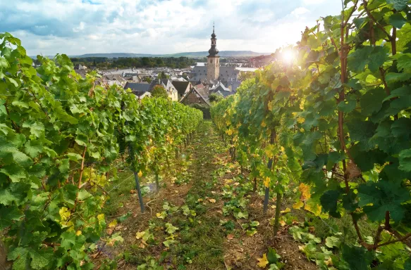
[{"label": "whole vineyard with both vine rows and leaf-strewn path between", "polygon": [[212,122],[0,34],[0,269],[411,269],[411,7],[342,9]]}]

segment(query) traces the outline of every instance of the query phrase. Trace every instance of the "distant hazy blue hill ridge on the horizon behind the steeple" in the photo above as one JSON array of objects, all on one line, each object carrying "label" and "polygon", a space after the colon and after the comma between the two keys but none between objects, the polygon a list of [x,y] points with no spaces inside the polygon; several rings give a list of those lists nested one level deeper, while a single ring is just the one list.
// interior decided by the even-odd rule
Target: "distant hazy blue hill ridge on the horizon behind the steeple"
[{"label": "distant hazy blue hill ridge on the horizon behind the steeple", "polygon": [[[254,51],[220,51],[221,57],[254,57],[254,56],[266,56],[271,53],[256,53]],[[208,51],[196,51],[188,53],[172,53],[172,54],[147,54],[147,53],[86,53],[81,56],[70,57],[106,57],[106,58],[121,58],[121,57],[206,57],[209,55]]]}]

